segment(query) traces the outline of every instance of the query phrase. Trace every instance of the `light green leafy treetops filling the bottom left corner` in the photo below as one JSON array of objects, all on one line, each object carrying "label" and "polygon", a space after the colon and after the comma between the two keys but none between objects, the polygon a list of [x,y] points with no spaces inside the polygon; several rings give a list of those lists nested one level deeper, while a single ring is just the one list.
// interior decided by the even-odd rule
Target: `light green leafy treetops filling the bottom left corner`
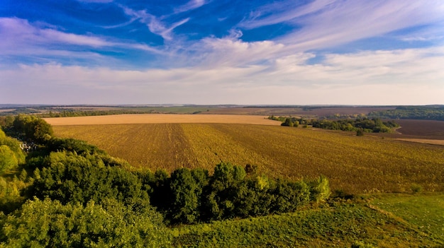
[{"label": "light green leafy treetops filling the bottom left corner", "polygon": [[170,232],[152,208],[112,200],[62,205],[33,199],[0,217],[7,247],[170,247]]}]

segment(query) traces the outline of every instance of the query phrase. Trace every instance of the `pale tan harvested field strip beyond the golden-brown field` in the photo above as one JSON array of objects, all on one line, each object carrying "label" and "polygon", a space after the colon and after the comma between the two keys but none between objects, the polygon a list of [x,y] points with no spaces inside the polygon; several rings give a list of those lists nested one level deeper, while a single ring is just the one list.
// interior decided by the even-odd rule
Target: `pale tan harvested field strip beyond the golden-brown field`
[{"label": "pale tan harvested field strip beyond the golden-brown field", "polygon": [[91,117],[45,118],[52,126],[161,123],[229,123],[279,126],[281,123],[259,115],[235,114],[115,114]]}]

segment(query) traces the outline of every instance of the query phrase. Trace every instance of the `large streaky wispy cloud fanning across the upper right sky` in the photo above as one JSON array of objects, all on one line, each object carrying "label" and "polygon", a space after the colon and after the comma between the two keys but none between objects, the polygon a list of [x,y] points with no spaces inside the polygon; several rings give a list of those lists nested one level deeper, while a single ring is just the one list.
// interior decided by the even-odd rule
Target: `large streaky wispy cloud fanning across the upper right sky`
[{"label": "large streaky wispy cloud fanning across the upper right sky", "polygon": [[258,28],[264,25],[287,23],[296,30],[279,37],[277,42],[293,45],[301,50],[320,49],[353,42],[367,37],[384,35],[395,30],[444,20],[443,1],[333,1],[316,0],[306,6],[294,6],[284,1],[267,6],[274,14],[260,11],[243,20],[239,26]]}]

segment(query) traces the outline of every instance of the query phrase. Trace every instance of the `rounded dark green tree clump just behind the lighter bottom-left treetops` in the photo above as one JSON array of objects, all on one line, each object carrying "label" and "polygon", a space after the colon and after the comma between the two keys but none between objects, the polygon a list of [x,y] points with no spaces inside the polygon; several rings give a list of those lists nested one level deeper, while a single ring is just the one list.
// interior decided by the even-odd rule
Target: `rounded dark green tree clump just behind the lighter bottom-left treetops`
[{"label": "rounded dark green tree clump just behind the lighter bottom-left treetops", "polygon": [[150,203],[140,179],[117,166],[109,166],[99,155],[77,155],[69,152],[51,153],[35,178],[34,193],[62,203],[82,203],[89,200],[101,203],[116,199],[131,204]]}]

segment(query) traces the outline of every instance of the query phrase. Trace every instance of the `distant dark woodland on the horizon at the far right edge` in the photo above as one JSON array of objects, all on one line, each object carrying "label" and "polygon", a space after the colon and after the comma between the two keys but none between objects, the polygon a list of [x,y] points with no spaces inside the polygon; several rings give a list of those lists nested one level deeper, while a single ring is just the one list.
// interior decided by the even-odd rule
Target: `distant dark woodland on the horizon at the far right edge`
[{"label": "distant dark woodland on the horizon at the far right edge", "polygon": [[373,111],[369,117],[381,119],[433,119],[444,121],[444,106],[403,106],[394,110]]}]

